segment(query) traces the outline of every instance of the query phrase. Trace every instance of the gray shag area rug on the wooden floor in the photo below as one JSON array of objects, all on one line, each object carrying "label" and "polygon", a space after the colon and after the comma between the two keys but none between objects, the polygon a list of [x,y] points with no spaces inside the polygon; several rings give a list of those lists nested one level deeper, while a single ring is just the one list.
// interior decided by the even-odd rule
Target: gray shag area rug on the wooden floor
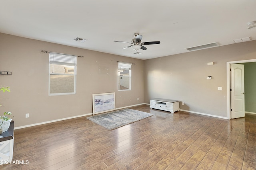
[{"label": "gray shag area rug on the wooden floor", "polygon": [[102,127],[105,127],[106,129],[113,130],[150,116],[152,116],[152,114],[143,111],[134,109],[122,109],[112,111],[110,113],[102,113],[99,115],[90,116],[87,117],[87,119],[97,123],[98,125],[101,125]]}]

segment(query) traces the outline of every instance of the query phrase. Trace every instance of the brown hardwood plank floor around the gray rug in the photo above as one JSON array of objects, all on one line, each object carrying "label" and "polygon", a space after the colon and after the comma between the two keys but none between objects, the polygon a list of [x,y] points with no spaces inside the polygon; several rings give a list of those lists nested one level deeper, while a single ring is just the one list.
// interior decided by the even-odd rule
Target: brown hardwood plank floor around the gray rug
[{"label": "brown hardwood plank floor around the gray rug", "polygon": [[[80,117],[14,131],[13,160],[1,170],[255,170],[256,115],[220,119],[178,111],[112,131]],[[28,161],[28,164],[26,164]]]}]

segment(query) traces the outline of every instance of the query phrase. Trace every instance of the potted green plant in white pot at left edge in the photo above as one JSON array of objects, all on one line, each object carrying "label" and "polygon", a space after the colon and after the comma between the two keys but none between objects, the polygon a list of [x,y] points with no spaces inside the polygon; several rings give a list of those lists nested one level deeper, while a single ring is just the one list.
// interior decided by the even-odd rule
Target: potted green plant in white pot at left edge
[{"label": "potted green plant in white pot at left edge", "polygon": [[[10,87],[7,86],[0,86],[0,91],[2,92],[10,92]],[[2,106],[2,105],[0,105]],[[10,123],[12,119],[8,117],[8,115],[11,115],[12,113],[10,111],[4,112],[4,115],[0,116],[0,134],[4,133],[8,130],[10,127]]]}]

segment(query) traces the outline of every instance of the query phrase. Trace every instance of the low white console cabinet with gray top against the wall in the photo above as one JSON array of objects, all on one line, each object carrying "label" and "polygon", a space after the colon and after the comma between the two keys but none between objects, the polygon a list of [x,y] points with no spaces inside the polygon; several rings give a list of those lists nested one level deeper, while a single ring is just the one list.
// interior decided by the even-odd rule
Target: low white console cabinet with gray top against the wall
[{"label": "low white console cabinet with gray top against the wall", "polygon": [[180,101],[154,98],[150,99],[150,108],[170,111],[171,113],[174,113],[175,111],[180,110]]}]

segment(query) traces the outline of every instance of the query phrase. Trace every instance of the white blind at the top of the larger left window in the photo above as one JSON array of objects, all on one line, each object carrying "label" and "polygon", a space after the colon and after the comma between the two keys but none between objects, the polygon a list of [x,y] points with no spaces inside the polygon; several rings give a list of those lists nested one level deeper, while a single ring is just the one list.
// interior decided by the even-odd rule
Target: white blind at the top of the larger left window
[{"label": "white blind at the top of the larger left window", "polygon": [[76,57],[72,55],[50,53],[49,62],[50,64],[61,64],[61,65],[68,64],[70,66],[76,66]]}]

